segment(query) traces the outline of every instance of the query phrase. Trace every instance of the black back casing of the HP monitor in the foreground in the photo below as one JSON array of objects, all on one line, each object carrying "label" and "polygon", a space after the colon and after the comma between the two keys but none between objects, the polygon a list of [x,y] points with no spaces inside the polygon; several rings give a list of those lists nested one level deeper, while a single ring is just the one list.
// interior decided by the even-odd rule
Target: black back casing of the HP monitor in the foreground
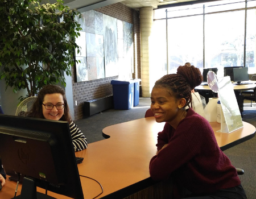
[{"label": "black back casing of the HP monitor in the foreground", "polygon": [[[35,133],[48,136],[48,139],[42,140],[41,138],[30,137],[30,134],[35,135]],[[13,139],[13,142],[6,143],[6,140],[11,139]],[[55,173],[52,173],[56,176],[54,181],[46,181],[42,176],[36,177],[31,173],[22,173],[24,171],[28,172],[28,169],[23,168],[28,167],[28,165],[20,163],[20,157],[18,157],[16,149],[11,150],[11,147],[20,147],[17,144],[20,142],[15,142],[14,139],[19,139],[21,142],[26,140],[29,144],[33,141],[48,146],[48,150],[51,150],[53,164],[56,167],[56,169],[53,169]],[[33,147],[36,147],[35,144]],[[35,149],[33,148],[33,150]],[[22,173],[26,177],[35,179],[36,186],[40,188],[71,198],[84,198],[68,122],[0,114],[0,154],[7,175],[14,176],[15,173]],[[18,158],[19,160],[17,160]],[[13,165],[15,162],[19,162],[20,165],[18,167]],[[33,169],[36,169],[36,167]],[[56,180],[58,181],[57,185],[55,184]]]}]

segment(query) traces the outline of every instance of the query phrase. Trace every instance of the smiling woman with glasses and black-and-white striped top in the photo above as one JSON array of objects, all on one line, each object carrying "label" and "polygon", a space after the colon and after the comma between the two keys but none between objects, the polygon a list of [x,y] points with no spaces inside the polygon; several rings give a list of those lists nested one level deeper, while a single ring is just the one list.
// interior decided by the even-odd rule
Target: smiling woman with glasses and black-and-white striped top
[{"label": "smiling woman with glasses and black-and-white striped top", "polygon": [[71,137],[75,151],[87,148],[87,140],[72,121],[65,91],[57,85],[46,85],[38,93],[28,117],[44,118],[69,122]]}]

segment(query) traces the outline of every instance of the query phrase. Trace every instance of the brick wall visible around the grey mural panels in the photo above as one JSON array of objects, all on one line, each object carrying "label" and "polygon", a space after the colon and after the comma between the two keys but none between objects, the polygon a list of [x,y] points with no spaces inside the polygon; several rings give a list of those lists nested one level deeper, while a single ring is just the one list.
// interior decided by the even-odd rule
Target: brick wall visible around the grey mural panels
[{"label": "brick wall visible around the grey mural panels", "polygon": [[[133,24],[134,36],[136,35],[136,39],[134,38],[134,41],[137,41],[136,44],[134,42],[134,55],[136,55],[137,58],[134,56],[133,78],[141,78],[141,35],[139,32],[139,13],[123,5],[122,3],[115,3],[110,6],[101,7],[96,11]],[[135,63],[136,61],[137,63]],[[75,120],[83,118],[85,101],[113,94],[112,85],[110,82],[111,80],[115,80],[117,78],[118,76],[114,76],[99,80],[75,82],[75,73],[72,67],[73,106]],[[75,101],[77,101],[77,106]]]}]

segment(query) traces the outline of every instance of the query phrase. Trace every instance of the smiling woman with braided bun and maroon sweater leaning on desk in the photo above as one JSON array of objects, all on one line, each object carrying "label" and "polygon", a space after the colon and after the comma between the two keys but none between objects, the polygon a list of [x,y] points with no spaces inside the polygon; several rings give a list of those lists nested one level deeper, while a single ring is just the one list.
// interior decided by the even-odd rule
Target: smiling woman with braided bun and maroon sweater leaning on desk
[{"label": "smiling woman with braided bun and maroon sweater leaning on desk", "polygon": [[[153,180],[171,175],[185,196],[177,198],[246,198],[228,157],[220,150],[209,122],[191,108],[191,90],[202,76],[193,66],[179,67],[155,82],[151,110],[156,122],[166,122],[158,133],[157,154],[150,161]],[[185,107],[188,106],[188,109]]]}]

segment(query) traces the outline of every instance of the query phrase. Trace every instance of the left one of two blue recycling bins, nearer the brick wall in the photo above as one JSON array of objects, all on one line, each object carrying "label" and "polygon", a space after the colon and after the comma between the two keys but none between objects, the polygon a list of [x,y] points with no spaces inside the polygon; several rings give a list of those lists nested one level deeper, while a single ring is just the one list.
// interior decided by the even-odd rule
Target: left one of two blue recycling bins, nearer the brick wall
[{"label": "left one of two blue recycling bins, nearer the brick wall", "polygon": [[134,106],[134,80],[112,80],[114,109],[131,109]]}]

